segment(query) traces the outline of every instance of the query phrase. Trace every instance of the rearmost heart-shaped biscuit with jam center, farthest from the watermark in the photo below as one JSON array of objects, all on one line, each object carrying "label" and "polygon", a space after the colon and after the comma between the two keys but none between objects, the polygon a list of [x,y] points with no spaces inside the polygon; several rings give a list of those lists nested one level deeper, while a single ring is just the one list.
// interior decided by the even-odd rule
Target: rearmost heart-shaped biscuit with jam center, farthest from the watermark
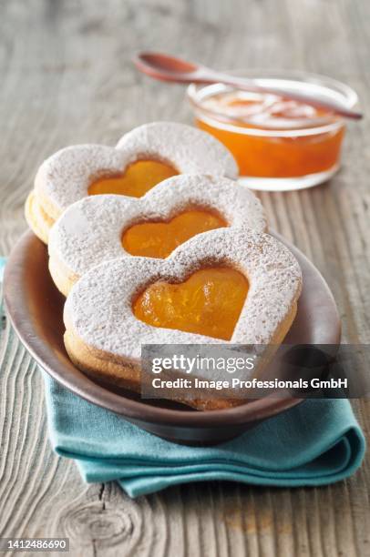
[{"label": "rearmost heart-shaped biscuit with jam center, farthest from the watermark", "polygon": [[117,147],[77,145],[57,151],[38,169],[26,202],[26,219],[47,243],[48,231],[72,203],[97,193],[140,197],[176,174],[236,178],[226,147],[195,127],[153,122],[122,137]]}]

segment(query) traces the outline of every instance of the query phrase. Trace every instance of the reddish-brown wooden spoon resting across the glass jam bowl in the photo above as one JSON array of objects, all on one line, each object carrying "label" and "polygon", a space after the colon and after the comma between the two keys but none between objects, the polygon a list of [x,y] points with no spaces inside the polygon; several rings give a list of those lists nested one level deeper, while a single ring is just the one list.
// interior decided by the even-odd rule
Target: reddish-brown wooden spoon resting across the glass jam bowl
[{"label": "reddish-brown wooden spoon resting across the glass jam bowl", "polygon": [[223,74],[207,66],[201,66],[157,52],[141,52],[134,59],[134,64],[140,72],[147,76],[154,77],[160,81],[171,81],[174,83],[223,83],[228,86],[252,91],[254,93],[270,93],[272,95],[284,96],[286,98],[304,103],[315,108],[321,108],[344,116],[346,118],[360,119],[363,117],[361,112],[347,108],[342,103],[333,99],[319,98],[318,96],[305,95],[295,90],[273,86],[262,86],[248,77],[237,77]]}]

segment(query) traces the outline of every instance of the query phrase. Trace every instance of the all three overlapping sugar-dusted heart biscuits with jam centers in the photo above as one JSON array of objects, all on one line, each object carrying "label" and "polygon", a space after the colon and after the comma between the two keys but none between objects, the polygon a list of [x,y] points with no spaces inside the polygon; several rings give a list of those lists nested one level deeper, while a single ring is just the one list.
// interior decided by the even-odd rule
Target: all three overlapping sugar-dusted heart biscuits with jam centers
[{"label": "all three overlapping sugar-dusted heart biscuits with jam centers", "polygon": [[142,344],[283,341],[301,270],[237,177],[219,141],[169,122],[133,129],[117,147],[67,147],[46,159],[26,219],[48,243],[51,276],[67,297],[65,345],[79,369],[139,391]]}]

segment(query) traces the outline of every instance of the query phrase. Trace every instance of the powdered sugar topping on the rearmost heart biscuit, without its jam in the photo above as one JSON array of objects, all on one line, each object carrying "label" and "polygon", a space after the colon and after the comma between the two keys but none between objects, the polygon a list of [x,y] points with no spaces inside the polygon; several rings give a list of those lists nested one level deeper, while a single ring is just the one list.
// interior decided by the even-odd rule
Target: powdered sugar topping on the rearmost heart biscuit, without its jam
[{"label": "powdered sugar topping on the rearmost heart biscuit, without its jam", "polygon": [[237,177],[231,153],[209,134],[190,126],[154,122],[133,129],[117,147],[77,145],[47,158],[35,179],[36,196],[47,200],[48,213],[58,218],[69,205],[87,196],[98,177],[117,175],[129,164],[151,158],[170,164],[180,174],[209,173]]}]

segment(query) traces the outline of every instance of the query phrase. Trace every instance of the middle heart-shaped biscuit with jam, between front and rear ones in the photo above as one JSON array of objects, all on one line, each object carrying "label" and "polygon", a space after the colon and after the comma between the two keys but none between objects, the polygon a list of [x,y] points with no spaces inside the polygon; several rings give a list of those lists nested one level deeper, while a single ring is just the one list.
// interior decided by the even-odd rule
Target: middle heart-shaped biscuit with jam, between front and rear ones
[{"label": "middle heart-shaped biscuit with jam, between front and rear ones", "polygon": [[86,197],[67,208],[51,230],[50,273],[67,296],[77,279],[102,261],[129,254],[161,257],[197,233],[224,226],[266,228],[259,199],[225,177],[171,177],[139,199]]}]

